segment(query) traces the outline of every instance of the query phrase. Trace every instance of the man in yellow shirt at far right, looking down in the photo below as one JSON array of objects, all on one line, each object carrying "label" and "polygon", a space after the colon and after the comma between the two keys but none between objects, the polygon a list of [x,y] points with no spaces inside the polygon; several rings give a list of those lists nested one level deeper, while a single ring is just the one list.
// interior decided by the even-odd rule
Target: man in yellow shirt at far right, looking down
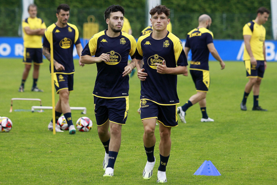
[{"label": "man in yellow shirt at far right, looking down", "polygon": [[241,110],[247,110],[246,100],[253,89],[254,102],[252,110],[267,111],[259,106],[260,84],[267,68],[265,55],[266,30],[262,24],[267,22],[270,11],[260,7],[255,20],[246,23],[243,27],[244,53],[243,60],[246,68],[246,77],[249,79],[245,85]]}]

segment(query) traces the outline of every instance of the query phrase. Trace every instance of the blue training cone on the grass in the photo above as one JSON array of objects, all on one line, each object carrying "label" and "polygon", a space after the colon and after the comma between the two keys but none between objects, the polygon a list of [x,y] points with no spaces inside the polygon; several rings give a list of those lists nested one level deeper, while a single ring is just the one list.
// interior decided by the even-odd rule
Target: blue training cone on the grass
[{"label": "blue training cone on the grass", "polygon": [[215,165],[211,161],[205,160],[203,164],[195,171],[193,175],[212,175],[218,176],[221,175],[216,169]]}]

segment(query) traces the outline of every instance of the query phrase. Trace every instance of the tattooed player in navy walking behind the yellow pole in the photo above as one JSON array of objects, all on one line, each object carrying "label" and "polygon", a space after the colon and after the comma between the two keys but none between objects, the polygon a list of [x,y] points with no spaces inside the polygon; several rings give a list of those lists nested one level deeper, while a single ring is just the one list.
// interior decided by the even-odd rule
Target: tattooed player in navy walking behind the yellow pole
[{"label": "tattooed player in navy walking behind the yellow pole", "polygon": [[[56,132],[63,132],[57,125],[58,118],[63,114],[69,126],[69,134],[75,134],[76,129],[72,123],[71,110],[69,105],[69,92],[73,91],[73,46],[75,44],[79,57],[82,53],[82,45],[79,39],[78,28],[70,23],[70,7],[67,4],[60,4],[57,8],[57,22],[50,25],[43,38],[43,55],[50,61],[50,43],[53,42],[54,54],[54,84],[59,100],[55,107]],[[53,39],[51,39],[51,34]],[[79,60],[79,65],[83,66]],[[50,68],[51,70],[51,68]],[[53,120],[48,125],[48,130],[53,131]]]}]

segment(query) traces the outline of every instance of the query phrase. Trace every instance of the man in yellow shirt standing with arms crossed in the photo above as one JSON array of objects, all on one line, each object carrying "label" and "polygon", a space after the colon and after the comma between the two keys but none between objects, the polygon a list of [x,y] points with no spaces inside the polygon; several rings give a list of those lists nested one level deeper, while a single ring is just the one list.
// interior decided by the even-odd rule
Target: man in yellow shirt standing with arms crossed
[{"label": "man in yellow shirt standing with arms crossed", "polygon": [[24,92],[24,84],[29,75],[32,61],[34,61],[34,72],[33,72],[33,87],[31,91],[33,92],[43,92],[43,90],[37,87],[39,66],[43,64],[42,62],[42,35],[46,29],[46,25],[41,18],[37,17],[37,6],[30,4],[28,6],[28,13],[30,17],[23,20],[23,64],[25,68],[22,74],[21,85],[18,92]]}]

